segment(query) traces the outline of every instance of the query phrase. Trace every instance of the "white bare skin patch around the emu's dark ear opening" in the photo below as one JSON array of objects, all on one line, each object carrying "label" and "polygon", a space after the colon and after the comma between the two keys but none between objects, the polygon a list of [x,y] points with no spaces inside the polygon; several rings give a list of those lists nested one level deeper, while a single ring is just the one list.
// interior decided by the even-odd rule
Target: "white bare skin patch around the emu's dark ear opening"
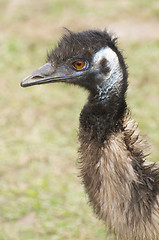
[{"label": "white bare skin patch around the emu's dark ear opening", "polygon": [[[101,73],[101,61],[106,59],[106,67],[110,69],[107,73]],[[117,54],[108,46],[100,49],[93,58],[92,71],[95,71],[98,78],[103,79],[102,89],[101,86],[97,86],[103,92],[103,87],[105,87],[105,94],[108,94],[110,89],[114,89],[118,94],[120,92],[121,81],[123,80],[123,72],[119,63]]]}]

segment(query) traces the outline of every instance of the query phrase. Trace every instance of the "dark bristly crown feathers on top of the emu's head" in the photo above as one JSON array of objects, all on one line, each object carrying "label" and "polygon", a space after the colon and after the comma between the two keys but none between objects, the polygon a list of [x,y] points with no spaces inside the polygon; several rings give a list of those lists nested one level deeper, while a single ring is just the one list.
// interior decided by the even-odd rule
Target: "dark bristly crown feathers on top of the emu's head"
[{"label": "dark bristly crown feathers on top of the emu's head", "polygon": [[107,31],[89,30],[73,33],[67,30],[58,46],[48,54],[48,61],[59,64],[72,56],[92,56],[106,46],[116,52],[116,41],[117,38],[113,38]]}]

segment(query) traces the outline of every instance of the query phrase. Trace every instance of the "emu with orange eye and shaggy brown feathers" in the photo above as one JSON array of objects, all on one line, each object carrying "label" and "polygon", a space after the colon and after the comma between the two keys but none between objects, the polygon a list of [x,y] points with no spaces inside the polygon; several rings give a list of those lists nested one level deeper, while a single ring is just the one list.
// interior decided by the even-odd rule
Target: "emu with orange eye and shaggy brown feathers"
[{"label": "emu with orange eye and shaggy brown feathers", "polygon": [[126,104],[128,73],[107,31],[68,30],[22,87],[64,82],[88,90],[80,114],[80,171],[97,216],[120,240],[159,240],[159,167]]}]

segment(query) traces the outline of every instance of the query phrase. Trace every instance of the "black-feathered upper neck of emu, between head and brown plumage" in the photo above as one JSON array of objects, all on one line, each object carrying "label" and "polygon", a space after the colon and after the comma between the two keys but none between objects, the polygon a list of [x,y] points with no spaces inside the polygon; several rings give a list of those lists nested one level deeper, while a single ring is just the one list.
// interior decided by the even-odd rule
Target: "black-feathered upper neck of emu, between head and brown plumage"
[{"label": "black-feathered upper neck of emu, between head and brown plumage", "polygon": [[99,102],[90,97],[80,115],[80,132],[87,133],[90,140],[102,145],[111,132],[121,128],[125,111],[124,97],[122,100],[114,97]]}]

